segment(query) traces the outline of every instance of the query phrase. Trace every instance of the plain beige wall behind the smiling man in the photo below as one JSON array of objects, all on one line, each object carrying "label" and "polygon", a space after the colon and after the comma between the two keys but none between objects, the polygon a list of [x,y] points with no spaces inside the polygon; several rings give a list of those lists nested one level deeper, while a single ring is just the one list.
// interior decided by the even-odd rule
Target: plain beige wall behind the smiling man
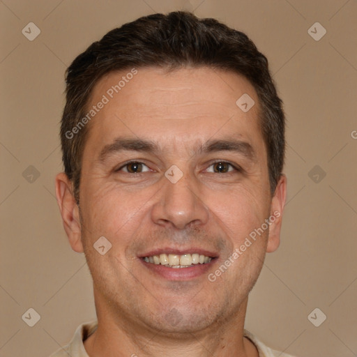
[{"label": "plain beige wall behind the smiling man", "polygon": [[[266,257],[246,328],[300,357],[357,356],[357,1],[3,0],[0,357],[49,356],[96,317],[84,255],[70,249],[54,199],[66,67],[109,29],[178,9],[245,31],[287,113],[282,243]],[[22,34],[29,22],[41,31],[33,41]],[[315,22],[327,30],[319,41],[307,33]],[[23,174],[29,165],[37,179]],[[315,165],[324,179],[310,179]],[[33,327],[22,320],[30,307]],[[316,307],[327,316],[319,327],[307,319]]]}]

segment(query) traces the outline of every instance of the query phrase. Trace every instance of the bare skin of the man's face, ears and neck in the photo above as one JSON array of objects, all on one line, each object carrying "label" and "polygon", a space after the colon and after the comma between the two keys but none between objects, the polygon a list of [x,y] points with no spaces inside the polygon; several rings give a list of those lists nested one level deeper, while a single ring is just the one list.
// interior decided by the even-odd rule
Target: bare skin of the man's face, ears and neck
[{"label": "bare skin of the man's face, ears and neck", "polygon": [[[91,357],[258,356],[243,337],[245,311],[266,252],[280,243],[287,182],[282,175],[271,195],[257,93],[244,77],[210,68],[137,70],[87,124],[80,213],[67,176],[56,176],[63,226],[73,250],[85,253],[93,277],[98,329],[84,347]],[[103,77],[89,107],[126,73]],[[247,113],[236,105],[243,93],[255,100]],[[100,161],[103,147],[119,136],[151,139],[160,150],[120,151]],[[208,139],[232,138],[248,142],[254,158],[195,151]],[[144,163],[142,173],[130,174],[128,166],[116,171],[128,160]],[[219,172],[215,160],[241,171],[227,165]],[[176,183],[165,177],[172,165],[183,172]],[[209,281],[208,273],[274,211],[280,217],[269,229]],[[93,248],[100,236],[112,243],[105,255]],[[139,258],[162,247],[198,247],[218,258],[196,278],[170,280]]]}]

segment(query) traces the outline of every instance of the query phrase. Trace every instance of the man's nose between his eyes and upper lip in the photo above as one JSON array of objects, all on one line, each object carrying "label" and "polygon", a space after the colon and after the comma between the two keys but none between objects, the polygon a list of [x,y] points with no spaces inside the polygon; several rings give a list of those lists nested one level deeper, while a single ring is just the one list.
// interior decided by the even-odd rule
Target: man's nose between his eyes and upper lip
[{"label": "man's nose between his eyes and upper lip", "polygon": [[166,177],[158,200],[153,205],[151,217],[157,225],[165,228],[185,229],[194,225],[206,225],[208,207],[204,204],[199,184],[188,174],[183,174],[176,183]]}]

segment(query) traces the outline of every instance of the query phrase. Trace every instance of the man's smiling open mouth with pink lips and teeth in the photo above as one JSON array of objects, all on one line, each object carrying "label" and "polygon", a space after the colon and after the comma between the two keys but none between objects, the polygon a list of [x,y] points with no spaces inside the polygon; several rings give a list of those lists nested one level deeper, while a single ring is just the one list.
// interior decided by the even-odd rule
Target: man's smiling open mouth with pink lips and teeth
[{"label": "man's smiling open mouth with pink lips and teeth", "polygon": [[192,249],[156,250],[139,257],[144,267],[155,276],[166,280],[191,280],[207,273],[217,260],[213,252]]}]

